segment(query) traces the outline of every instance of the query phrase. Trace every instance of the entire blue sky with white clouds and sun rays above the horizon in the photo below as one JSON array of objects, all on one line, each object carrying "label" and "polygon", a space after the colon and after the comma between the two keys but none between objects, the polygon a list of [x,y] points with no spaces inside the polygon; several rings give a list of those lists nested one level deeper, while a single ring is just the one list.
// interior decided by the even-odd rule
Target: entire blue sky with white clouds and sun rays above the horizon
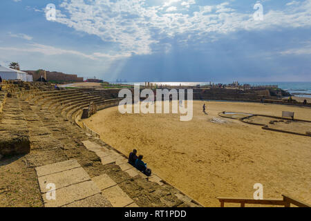
[{"label": "entire blue sky with white clouds and sun rays above the horizon", "polygon": [[0,65],[106,81],[311,81],[310,26],[311,0],[1,0]]}]

